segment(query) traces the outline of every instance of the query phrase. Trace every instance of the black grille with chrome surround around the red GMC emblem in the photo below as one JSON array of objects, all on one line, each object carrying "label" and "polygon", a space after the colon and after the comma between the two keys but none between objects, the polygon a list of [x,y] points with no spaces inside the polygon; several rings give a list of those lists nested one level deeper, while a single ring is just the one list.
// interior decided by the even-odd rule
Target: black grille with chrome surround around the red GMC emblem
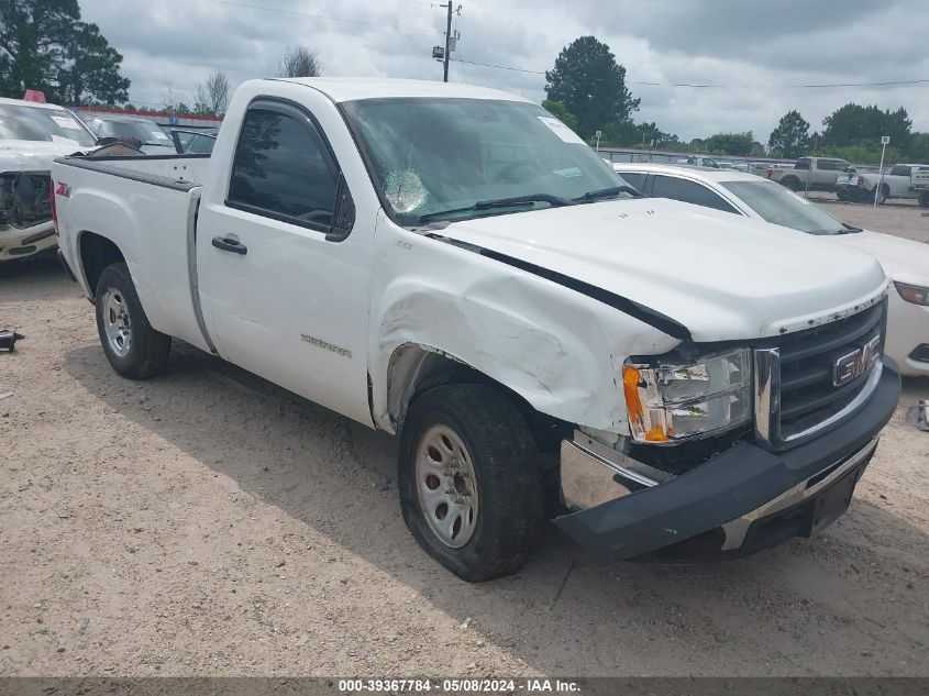
[{"label": "black grille with chrome surround around the red GMC emblem", "polygon": [[[772,449],[821,433],[858,409],[880,379],[886,300],[755,349],[755,431]],[[874,367],[836,386],[837,362],[877,338]]]}]

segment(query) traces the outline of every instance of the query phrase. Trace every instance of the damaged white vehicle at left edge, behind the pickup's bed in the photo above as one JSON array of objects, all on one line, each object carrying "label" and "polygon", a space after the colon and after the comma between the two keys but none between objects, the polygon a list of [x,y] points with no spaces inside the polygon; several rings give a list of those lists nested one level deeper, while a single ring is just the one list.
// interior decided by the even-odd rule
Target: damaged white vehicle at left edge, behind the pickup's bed
[{"label": "damaged white vehicle at left edge, behind the pickup's bed", "polygon": [[0,262],[55,247],[48,196],[52,161],[96,142],[67,109],[0,99]]}]

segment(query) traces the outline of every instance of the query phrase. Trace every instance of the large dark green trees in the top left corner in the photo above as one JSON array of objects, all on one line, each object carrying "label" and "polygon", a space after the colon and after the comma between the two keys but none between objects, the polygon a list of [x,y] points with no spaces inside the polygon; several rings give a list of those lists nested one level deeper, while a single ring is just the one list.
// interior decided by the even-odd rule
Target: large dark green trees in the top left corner
[{"label": "large dark green trees in the top left corner", "polygon": [[0,1],[0,95],[21,98],[41,89],[52,101],[87,96],[124,101],[122,56],[96,24],[80,21],[77,0]]}]

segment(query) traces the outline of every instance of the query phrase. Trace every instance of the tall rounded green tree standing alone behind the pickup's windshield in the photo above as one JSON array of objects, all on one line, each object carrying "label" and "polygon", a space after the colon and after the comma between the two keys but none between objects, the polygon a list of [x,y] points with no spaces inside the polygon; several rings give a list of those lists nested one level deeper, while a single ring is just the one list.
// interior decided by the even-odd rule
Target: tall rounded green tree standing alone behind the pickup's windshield
[{"label": "tall rounded green tree standing alone behind the pickup's windshield", "polygon": [[545,92],[577,117],[577,132],[589,139],[608,123],[629,121],[639,109],[626,88],[626,68],[594,36],[575,38],[545,73]]}]

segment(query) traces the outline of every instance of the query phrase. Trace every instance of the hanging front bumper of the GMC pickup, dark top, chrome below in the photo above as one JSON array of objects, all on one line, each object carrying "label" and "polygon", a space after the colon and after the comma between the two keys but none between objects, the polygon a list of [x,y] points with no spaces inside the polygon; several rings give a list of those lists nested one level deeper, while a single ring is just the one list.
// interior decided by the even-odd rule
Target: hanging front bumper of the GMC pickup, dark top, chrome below
[{"label": "hanging front bumper of the GMC pickup, dark top, chrome below", "polygon": [[714,560],[772,546],[808,529],[804,506],[815,506],[818,494],[861,475],[899,390],[887,361],[869,402],[826,435],[785,452],[738,442],[682,476],[554,523],[600,561]]}]

